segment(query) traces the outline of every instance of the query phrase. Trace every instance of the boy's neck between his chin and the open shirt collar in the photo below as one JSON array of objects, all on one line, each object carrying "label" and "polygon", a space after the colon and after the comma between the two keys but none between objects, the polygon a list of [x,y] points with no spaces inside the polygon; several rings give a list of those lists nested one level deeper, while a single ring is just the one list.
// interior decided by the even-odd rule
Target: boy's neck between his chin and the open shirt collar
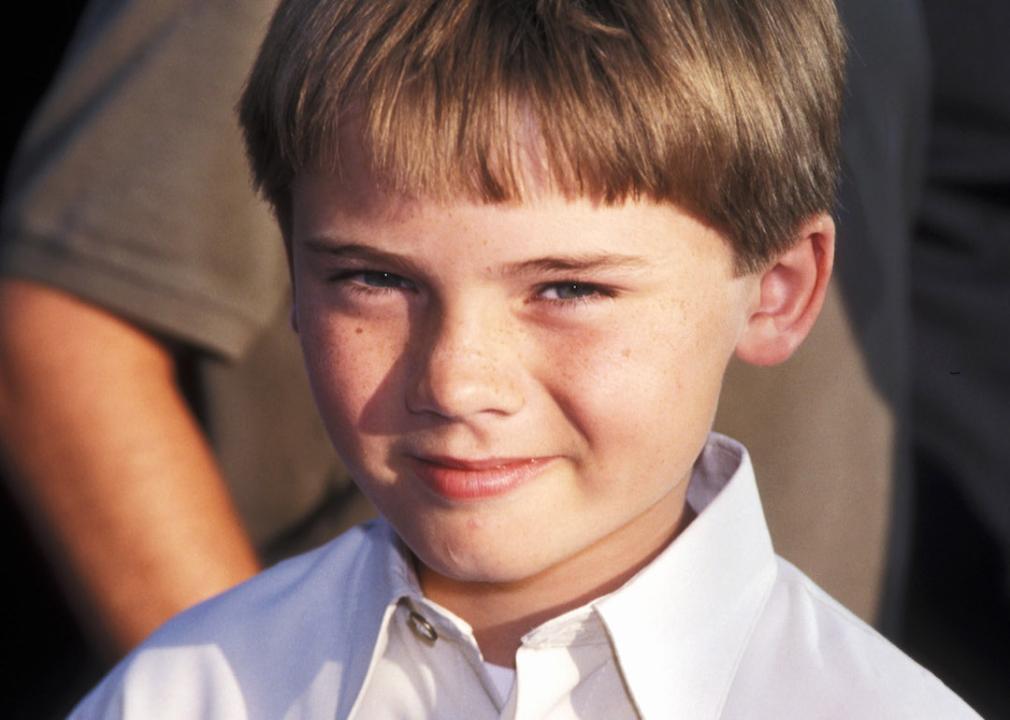
[{"label": "boy's neck between his chin and the open shirt collar", "polygon": [[665,531],[642,533],[632,524],[619,528],[578,555],[514,583],[452,580],[417,563],[424,595],[466,620],[484,659],[515,665],[523,635],[569,610],[620,588],[651,562],[695,517],[685,501],[687,483],[648,512],[670,518]]}]

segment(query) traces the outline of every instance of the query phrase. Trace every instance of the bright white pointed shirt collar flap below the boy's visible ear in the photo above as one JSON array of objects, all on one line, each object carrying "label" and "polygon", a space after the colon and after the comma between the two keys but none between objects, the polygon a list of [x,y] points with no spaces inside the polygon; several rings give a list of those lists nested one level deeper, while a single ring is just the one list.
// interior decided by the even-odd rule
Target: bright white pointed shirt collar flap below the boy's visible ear
[{"label": "bright white pointed shirt collar flap below the boy's visible ear", "polygon": [[694,521],[594,603],[644,718],[715,718],[775,580],[775,553],[742,445],[712,433],[688,488]]}]

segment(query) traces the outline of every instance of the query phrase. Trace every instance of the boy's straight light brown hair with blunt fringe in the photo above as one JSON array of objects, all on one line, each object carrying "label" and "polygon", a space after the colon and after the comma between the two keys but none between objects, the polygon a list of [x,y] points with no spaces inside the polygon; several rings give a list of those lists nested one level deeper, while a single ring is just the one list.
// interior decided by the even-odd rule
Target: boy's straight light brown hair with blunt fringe
[{"label": "boy's straight light brown hair with blunt fringe", "polygon": [[284,0],[239,116],[282,226],[352,141],[416,197],[521,202],[538,162],[569,196],[676,203],[745,272],[831,209],[843,56],[831,0]]}]

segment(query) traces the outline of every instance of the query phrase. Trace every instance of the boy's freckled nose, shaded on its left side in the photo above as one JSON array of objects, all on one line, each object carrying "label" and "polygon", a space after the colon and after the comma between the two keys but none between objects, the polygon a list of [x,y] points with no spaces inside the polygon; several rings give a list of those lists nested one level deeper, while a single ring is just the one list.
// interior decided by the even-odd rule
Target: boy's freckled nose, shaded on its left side
[{"label": "boy's freckled nose, shaded on its left side", "polygon": [[407,409],[457,420],[518,412],[519,348],[500,320],[471,311],[429,323],[412,343]]}]

